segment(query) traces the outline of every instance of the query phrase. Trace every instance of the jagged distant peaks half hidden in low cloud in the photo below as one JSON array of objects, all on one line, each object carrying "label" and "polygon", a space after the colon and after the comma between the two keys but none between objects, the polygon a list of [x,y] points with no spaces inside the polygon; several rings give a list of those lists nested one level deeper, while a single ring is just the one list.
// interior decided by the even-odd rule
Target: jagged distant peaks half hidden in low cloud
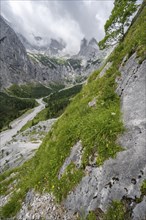
[{"label": "jagged distant peaks half hidden in low cloud", "polygon": [[[42,43],[45,40],[40,36],[34,36],[34,42],[30,43],[22,34],[17,34],[21,42],[27,51],[31,53],[42,53],[48,56],[53,57],[67,57],[64,50],[66,48],[66,44],[62,39],[50,39],[48,38],[48,42]],[[69,55],[70,58],[76,59],[85,59],[87,60],[95,60],[97,57],[105,55],[105,51],[101,51],[98,47],[98,42],[95,38],[91,38],[89,41],[86,38],[83,38],[80,43],[80,50],[75,55]]]}]

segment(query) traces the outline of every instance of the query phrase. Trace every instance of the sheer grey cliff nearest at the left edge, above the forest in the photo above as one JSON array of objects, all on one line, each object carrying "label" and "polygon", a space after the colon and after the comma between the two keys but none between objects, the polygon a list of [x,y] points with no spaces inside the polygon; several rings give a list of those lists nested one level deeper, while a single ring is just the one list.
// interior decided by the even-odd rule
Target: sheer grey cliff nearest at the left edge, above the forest
[{"label": "sheer grey cliff nearest at the left edge, above the forest", "polygon": [[0,81],[1,87],[34,79],[33,66],[15,32],[0,17]]}]

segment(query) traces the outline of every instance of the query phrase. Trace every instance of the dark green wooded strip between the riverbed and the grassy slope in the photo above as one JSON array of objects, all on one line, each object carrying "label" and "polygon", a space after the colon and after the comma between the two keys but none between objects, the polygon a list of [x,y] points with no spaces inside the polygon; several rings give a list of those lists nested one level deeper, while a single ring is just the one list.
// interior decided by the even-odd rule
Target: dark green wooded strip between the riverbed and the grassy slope
[{"label": "dark green wooded strip between the riverbed and the grassy slope", "polygon": [[28,121],[27,124],[22,127],[21,131],[25,131],[27,128],[38,124],[40,121],[46,121],[47,119],[57,118],[62,115],[65,108],[70,103],[71,98],[79,93],[81,88],[82,85],[76,85],[71,88],[56,91],[49,97],[44,98],[44,101],[47,103],[46,108],[39,112],[33,120]]}]

